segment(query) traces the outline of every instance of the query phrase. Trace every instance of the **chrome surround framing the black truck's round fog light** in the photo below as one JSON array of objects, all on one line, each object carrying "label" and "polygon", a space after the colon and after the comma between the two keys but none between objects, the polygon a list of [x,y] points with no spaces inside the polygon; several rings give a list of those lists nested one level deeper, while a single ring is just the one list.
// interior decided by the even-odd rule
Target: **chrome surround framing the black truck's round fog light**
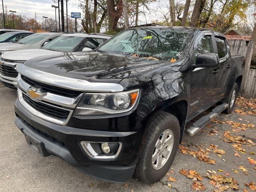
[{"label": "chrome surround framing the black truck's round fog light", "polygon": [[121,142],[106,142],[106,143],[118,143],[119,144],[116,154],[109,155],[109,156],[108,155],[99,155],[98,153],[95,152],[95,150],[92,148],[90,143],[104,143],[104,142],[81,141],[80,144],[81,144],[82,148],[84,149],[86,154],[88,154],[88,156],[93,159],[115,159],[120,154],[120,151],[122,148]]}]

